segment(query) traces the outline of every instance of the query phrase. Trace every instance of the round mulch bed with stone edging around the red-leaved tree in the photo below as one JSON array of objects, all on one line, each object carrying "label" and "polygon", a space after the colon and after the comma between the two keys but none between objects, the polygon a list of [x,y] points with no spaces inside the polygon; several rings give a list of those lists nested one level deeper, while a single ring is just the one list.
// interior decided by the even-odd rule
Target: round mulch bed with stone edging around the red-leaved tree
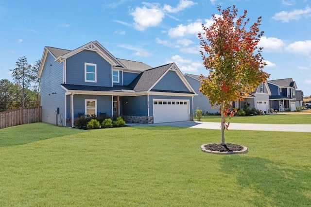
[{"label": "round mulch bed with stone edging around the red-leaved tree", "polygon": [[238,144],[225,144],[212,143],[201,145],[201,150],[206,153],[232,155],[232,154],[244,154],[247,153],[247,147],[243,147]]}]

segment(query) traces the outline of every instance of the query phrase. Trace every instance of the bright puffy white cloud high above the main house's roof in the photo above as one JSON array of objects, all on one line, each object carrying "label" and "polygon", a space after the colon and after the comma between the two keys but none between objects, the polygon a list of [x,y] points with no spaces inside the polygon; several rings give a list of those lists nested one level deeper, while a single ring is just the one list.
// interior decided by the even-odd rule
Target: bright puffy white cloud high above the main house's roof
[{"label": "bright puffy white cloud high above the main house's roof", "polygon": [[[150,4],[148,4],[150,5]],[[152,8],[136,7],[130,14],[134,17],[135,28],[139,31],[144,31],[149,27],[156,27],[162,22],[164,12],[153,5]]]}]

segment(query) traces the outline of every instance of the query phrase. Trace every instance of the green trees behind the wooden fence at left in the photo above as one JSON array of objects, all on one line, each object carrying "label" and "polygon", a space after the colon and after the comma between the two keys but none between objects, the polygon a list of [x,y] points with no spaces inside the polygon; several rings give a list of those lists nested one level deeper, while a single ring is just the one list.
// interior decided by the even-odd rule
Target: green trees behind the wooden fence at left
[{"label": "green trees behind the wooden fence at left", "polygon": [[40,79],[37,73],[41,60],[30,65],[27,58],[20,57],[12,71],[13,83],[8,79],[0,80],[0,112],[16,108],[40,105]]}]

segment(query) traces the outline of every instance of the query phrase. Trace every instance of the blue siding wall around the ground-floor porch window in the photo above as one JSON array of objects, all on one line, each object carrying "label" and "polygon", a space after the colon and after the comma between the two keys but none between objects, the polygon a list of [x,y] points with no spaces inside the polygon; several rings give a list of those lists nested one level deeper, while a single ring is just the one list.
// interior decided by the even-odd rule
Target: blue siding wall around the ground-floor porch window
[{"label": "blue siding wall around the ground-floor porch window", "polygon": [[[85,114],[85,100],[95,99],[97,100],[97,115],[100,112],[106,112],[107,115],[113,116],[112,113],[112,96],[96,96],[96,95],[74,95],[73,96],[73,107],[74,107],[74,117],[78,117],[78,113]],[[70,104],[70,101],[69,103]]]}]

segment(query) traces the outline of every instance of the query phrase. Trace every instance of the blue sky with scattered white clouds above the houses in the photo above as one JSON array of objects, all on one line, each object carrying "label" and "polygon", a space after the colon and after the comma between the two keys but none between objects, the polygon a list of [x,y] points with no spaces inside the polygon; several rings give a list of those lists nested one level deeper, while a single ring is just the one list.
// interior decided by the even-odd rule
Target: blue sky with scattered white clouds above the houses
[{"label": "blue sky with scattered white clouds above the houses", "polygon": [[[74,2],[74,3],[73,3]],[[175,62],[204,74],[197,33],[217,5],[262,16],[260,41],[270,79],[293,78],[311,95],[311,0],[0,0],[0,79],[18,57],[41,59],[45,46],[74,50],[99,41],[115,57],[157,67]]]}]

